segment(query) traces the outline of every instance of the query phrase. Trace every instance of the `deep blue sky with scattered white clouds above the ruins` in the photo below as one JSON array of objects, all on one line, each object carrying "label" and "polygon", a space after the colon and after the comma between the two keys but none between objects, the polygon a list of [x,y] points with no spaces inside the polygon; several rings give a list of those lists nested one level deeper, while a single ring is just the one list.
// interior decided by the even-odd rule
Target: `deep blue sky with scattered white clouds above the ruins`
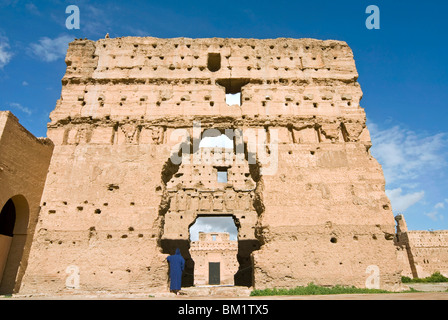
[{"label": "deep blue sky with scattered white clouds above the ruins", "polygon": [[[68,30],[68,5],[80,29]],[[368,30],[367,6],[380,9]],[[448,229],[448,3],[430,1],[0,0],[0,109],[36,136],[60,96],[73,38],[318,38],[352,48],[395,213],[410,229]]]}]

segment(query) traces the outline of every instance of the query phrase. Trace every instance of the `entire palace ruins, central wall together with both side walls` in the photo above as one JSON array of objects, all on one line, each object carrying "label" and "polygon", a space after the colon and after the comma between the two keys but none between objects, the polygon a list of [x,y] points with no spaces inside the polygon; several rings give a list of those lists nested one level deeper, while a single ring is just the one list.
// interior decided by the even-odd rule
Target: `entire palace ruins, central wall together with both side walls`
[{"label": "entire palace ruins, central wall together with both side walls", "polygon": [[[176,248],[183,287],[448,276],[448,231],[394,217],[345,42],[106,36],[65,61],[46,138],[0,112],[0,293],[167,292]],[[200,217],[237,239],[190,241]]]}]

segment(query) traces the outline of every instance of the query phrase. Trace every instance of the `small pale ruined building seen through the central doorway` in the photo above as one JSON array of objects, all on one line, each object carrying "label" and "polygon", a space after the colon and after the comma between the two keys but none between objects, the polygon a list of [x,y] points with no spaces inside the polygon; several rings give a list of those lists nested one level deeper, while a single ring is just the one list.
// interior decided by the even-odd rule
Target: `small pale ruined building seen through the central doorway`
[{"label": "small pale ruined building seen through the central doorway", "polygon": [[238,243],[229,239],[227,232],[199,232],[199,240],[192,241],[191,257],[194,260],[194,284],[209,284],[209,263],[220,263],[220,284],[233,285],[238,271]]}]

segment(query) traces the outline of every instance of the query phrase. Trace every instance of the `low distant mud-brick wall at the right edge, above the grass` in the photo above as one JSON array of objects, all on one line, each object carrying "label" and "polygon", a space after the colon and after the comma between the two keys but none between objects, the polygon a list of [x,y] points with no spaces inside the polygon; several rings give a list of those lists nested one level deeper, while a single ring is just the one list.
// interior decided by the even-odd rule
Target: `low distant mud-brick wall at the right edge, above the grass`
[{"label": "low distant mud-brick wall at the right edge, above the grass", "polygon": [[408,230],[403,215],[396,216],[395,220],[402,275],[425,278],[438,271],[448,277],[448,231]]}]

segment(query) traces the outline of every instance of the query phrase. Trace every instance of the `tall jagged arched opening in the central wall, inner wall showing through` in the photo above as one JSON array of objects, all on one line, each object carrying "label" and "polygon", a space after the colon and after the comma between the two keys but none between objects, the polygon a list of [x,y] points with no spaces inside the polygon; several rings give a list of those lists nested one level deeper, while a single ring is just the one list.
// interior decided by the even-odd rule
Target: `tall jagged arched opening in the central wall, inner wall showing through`
[{"label": "tall jagged arched opening in the central wall, inner wall showing through", "polygon": [[159,247],[165,254],[180,249],[185,259],[182,286],[193,286],[196,268],[190,253],[190,227],[198,217],[232,217],[238,230],[233,283],[253,286],[251,254],[262,243],[257,230],[264,210],[256,154],[240,130],[211,128],[184,138],[172,153],[174,161],[170,157],[162,170]]}]

